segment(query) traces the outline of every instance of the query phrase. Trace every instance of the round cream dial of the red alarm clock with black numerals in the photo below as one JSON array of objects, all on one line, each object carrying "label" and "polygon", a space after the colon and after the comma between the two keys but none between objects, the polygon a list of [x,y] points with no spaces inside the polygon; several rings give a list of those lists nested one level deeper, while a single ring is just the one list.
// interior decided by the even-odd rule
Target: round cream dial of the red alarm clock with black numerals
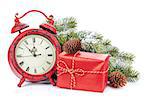
[{"label": "round cream dial of the red alarm clock with black numerals", "polygon": [[28,35],[23,37],[15,49],[18,66],[28,74],[42,75],[49,72],[56,61],[56,49],[45,37]]}]

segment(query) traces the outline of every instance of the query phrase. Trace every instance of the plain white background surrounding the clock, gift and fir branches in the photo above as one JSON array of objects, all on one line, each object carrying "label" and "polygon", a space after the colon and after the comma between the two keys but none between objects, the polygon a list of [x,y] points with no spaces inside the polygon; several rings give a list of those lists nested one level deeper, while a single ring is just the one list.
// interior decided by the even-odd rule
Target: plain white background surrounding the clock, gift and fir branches
[{"label": "plain white background surrounding the clock, gift and fir branches", "polygon": [[[79,30],[100,32],[122,51],[136,55],[134,67],[140,71],[137,83],[104,93],[60,89],[51,85],[33,84],[18,88],[19,79],[12,73],[7,51],[18,34],[10,34],[14,14],[37,9],[53,14],[55,19],[74,16]],[[22,20],[37,28],[45,21],[40,14],[31,14]],[[149,0],[1,0],[0,2],[0,98],[52,99],[64,98],[143,98],[149,97],[150,72],[150,2]]]}]

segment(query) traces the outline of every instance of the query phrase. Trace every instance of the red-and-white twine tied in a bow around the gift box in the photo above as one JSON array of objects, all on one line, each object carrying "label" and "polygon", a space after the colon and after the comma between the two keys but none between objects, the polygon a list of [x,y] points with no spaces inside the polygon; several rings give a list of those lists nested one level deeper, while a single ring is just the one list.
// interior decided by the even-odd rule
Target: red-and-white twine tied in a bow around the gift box
[{"label": "red-and-white twine tied in a bow around the gift box", "polygon": [[[79,54],[79,51],[78,51],[77,53],[75,53],[74,56],[73,56],[73,58],[72,58],[72,68],[71,68],[71,69],[70,69],[70,68],[68,67],[68,65],[67,65],[64,61],[62,61],[62,60],[59,60],[58,63],[57,63],[57,70],[61,71],[61,72],[59,72],[59,73],[57,74],[57,76],[60,76],[60,75],[62,75],[62,74],[64,74],[64,73],[69,73],[69,74],[70,74],[70,76],[71,76],[70,88],[71,88],[71,89],[76,86],[75,75],[77,75],[77,76],[84,76],[85,73],[101,74],[101,73],[106,73],[106,72],[108,71],[108,69],[109,69],[109,68],[108,68],[107,70],[105,70],[105,71],[103,71],[103,72],[100,72],[100,71],[85,71],[85,70],[83,70],[83,69],[81,69],[81,68],[75,69],[75,57],[76,57],[77,54]],[[65,67],[60,66],[60,63],[62,63]]]}]

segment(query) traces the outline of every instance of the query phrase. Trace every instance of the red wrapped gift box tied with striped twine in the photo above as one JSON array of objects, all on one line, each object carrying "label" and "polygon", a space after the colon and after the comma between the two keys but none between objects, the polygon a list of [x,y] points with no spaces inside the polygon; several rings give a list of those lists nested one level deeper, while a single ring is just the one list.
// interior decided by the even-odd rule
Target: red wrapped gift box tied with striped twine
[{"label": "red wrapped gift box tied with striped twine", "polygon": [[109,55],[90,52],[59,54],[57,86],[103,92],[108,80]]}]

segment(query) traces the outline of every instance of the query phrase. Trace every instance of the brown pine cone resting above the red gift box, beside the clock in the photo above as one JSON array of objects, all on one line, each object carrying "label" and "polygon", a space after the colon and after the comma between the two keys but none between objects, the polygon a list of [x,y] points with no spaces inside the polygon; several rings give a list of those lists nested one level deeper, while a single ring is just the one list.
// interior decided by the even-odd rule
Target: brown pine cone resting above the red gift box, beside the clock
[{"label": "brown pine cone resting above the red gift box, beside the clock", "polygon": [[68,54],[74,54],[79,50],[81,50],[81,42],[79,39],[71,39],[63,45],[63,51]]}]

